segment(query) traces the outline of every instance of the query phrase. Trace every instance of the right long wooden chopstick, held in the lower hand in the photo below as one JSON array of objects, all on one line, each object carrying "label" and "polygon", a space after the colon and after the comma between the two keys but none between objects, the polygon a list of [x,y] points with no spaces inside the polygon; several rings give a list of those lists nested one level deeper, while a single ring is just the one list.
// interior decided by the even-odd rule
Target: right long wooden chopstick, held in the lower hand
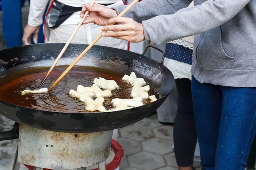
[{"label": "right long wooden chopstick, held in the lower hand", "polygon": [[[134,0],[129,6],[127,6],[125,8],[124,11],[121,12],[121,14],[119,14],[119,17],[122,17],[132,6],[134,6],[135,3],[137,3],[139,0]],[[112,24],[114,25],[114,24]],[[102,37],[102,34],[105,33],[107,31],[102,31],[98,37],[96,37],[95,40],[93,40],[93,42],[90,43],[90,45],[87,46],[87,48],[85,48],[85,50],[75,59],[75,61],[61,74],[61,76],[53,83],[53,85],[49,88],[48,91],[52,90],[52,88],[57,85],[57,83],[71,70],[71,68],[73,68],[73,66],[79,61],[79,59],[81,59],[85,53],[87,53],[87,51],[90,50],[90,48],[92,48],[92,46]]]}]

